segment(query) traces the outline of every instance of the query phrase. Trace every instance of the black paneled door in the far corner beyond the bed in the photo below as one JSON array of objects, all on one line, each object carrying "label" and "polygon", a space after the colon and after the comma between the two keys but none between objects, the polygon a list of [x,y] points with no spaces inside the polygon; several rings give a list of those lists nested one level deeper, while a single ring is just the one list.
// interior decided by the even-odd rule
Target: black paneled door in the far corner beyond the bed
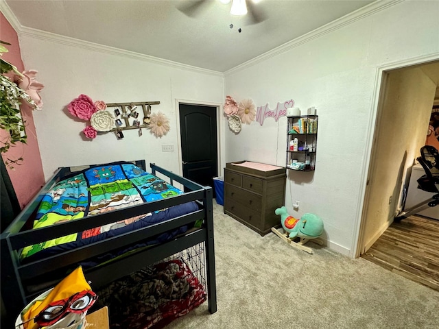
[{"label": "black paneled door in the far corner beyond the bed", "polygon": [[218,108],[179,103],[178,110],[182,175],[193,182],[213,188],[213,178],[218,174]]}]

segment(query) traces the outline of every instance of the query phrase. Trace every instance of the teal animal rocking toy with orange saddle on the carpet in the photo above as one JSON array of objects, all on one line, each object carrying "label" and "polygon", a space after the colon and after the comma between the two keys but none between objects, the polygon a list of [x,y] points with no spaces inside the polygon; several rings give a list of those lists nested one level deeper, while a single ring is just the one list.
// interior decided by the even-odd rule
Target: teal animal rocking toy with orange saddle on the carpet
[{"label": "teal animal rocking toy with orange saddle on the carpet", "polygon": [[[323,221],[320,217],[307,213],[300,217],[300,219],[295,219],[288,215],[285,206],[277,208],[274,212],[276,215],[281,215],[281,225],[285,233],[279,232],[276,228],[272,228],[272,232],[281,237],[285,242],[309,254],[312,254],[313,250],[310,247],[304,246],[309,240],[312,239],[313,242],[320,245],[323,244],[323,241],[318,239],[323,233]],[[297,237],[300,238],[300,241],[294,242],[293,240]]]}]

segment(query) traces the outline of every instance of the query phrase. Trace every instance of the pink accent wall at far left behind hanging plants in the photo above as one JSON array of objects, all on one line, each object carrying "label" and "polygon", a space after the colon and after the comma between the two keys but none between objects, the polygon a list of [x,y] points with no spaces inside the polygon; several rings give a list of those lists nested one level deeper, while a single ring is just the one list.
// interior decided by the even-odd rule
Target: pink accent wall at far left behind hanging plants
[{"label": "pink accent wall at far left behind hanging plants", "polygon": [[[21,60],[21,51],[19,38],[3,13],[0,12],[0,40],[9,42],[11,45],[5,45],[8,53],[3,53],[3,60],[15,65],[16,68],[23,72],[25,70],[23,60]],[[37,69],[38,68],[26,68]],[[44,110],[44,109],[43,109]],[[12,185],[16,196],[19,199],[21,208],[23,208],[45,184],[43,165],[41,164],[40,149],[36,136],[34,117],[32,109],[29,106],[21,106],[21,114],[25,120],[25,130],[27,134],[27,144],[17,143],[10,147],[9,151],[1,154],[3,160],[7,158],[23,158],[21,165],[14,165],[14,169],[8,168]],[[0,141],[8,137],[8,132],[0,130]]]}]

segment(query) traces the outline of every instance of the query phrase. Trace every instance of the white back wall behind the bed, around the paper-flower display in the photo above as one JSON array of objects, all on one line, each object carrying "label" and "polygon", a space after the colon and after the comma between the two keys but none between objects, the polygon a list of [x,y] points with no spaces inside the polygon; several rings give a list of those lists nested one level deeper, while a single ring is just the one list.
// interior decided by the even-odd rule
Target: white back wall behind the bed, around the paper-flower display
[{"label": "white back wall behind the bed, around the paper-flower display", "polygon": [[[34,118],[46,180],[58,167],[115,160],[145,159],[147,164],[156,162],[179,173],[176,99],[224,101],[224,80],[219,73],[130,58],[102,47],[78,47],[78,42],[38,35],[21,35],[20,43],[26,67],[37,69],[38,81],[45,84],[41,93],[44,108]],[[119,141],[113,133],[86,140],[82,136],[86,123],[72,119],[66,110],[80,94],[106,103],[160,101],[152,111],[164,112],[171,130],[163,138],[143,129],[141,137],[137,130],[128,130]],[[162,152],[162,144],[174,144],[175,151]]]}]

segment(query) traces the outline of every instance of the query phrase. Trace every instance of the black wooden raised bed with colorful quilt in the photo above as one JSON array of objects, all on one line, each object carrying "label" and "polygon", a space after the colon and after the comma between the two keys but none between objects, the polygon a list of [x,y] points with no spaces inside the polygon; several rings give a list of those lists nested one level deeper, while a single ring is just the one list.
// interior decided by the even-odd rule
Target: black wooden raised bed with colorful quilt
[{"label": "black wooden raised bed with colorful quilt", "polygon": [[212,188],[150,167],[141,160],[56,171],[1,234],[1,295],[10,321],[78,265],[99,290],[194,246],[201,246],[215,313]]}]

